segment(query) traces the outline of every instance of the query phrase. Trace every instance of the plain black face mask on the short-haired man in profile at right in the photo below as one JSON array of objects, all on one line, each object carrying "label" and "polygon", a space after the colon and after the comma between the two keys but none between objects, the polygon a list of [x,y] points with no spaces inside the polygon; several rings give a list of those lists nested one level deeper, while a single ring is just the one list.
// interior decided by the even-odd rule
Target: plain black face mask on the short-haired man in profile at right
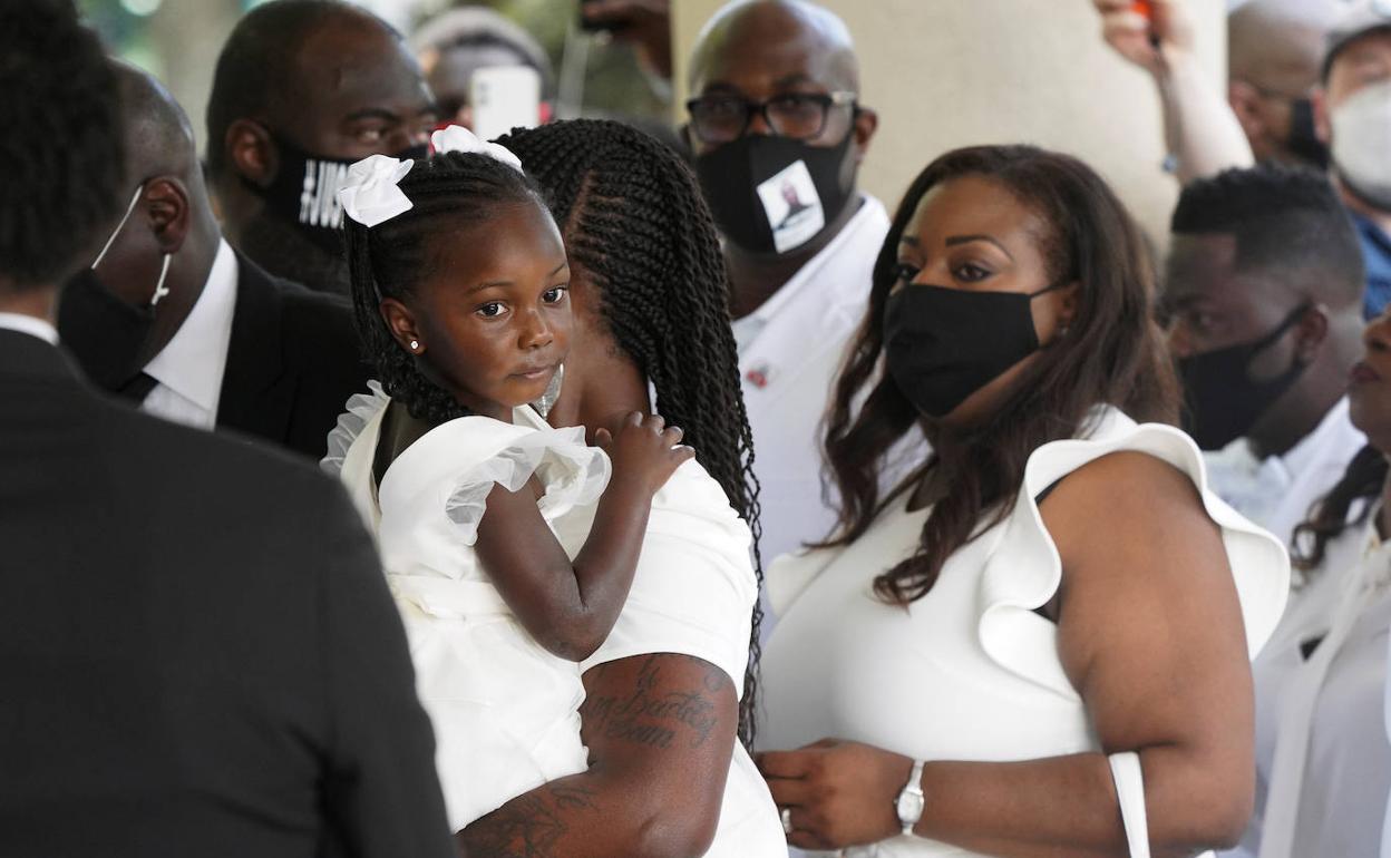
[{"label": "plain black face mask on the short-haired man in profile at right", "polygon": [[1298,360],[1270,381],[1252,381],[1248,367],[1308,310],[1309,305],[1295,307],[1274,331],[1252,342],[1178,360],[1178,377],[1184,382],[1184,430],[1199,448],[1221,449],[1245,435],[1266,409],[1299,380],[1306,364]]}]

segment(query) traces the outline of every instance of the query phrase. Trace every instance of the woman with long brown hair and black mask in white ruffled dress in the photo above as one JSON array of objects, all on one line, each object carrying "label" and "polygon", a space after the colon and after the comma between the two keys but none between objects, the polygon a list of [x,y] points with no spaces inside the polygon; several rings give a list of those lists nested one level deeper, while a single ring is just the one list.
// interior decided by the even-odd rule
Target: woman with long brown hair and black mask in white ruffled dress
[{"label": "woman with long brown hair and black mask in white ruffled dress", "polygon": [[[1148,260],[1067,156],[963,149],[910,186],[828,421],[840,528],[768,573],[759,768],[793,845],[1145,858],[1241,833],[1288,560],[1187,435],[1136,423],[1177,412]],[[933,451],[881,496],[914,423]]]}]

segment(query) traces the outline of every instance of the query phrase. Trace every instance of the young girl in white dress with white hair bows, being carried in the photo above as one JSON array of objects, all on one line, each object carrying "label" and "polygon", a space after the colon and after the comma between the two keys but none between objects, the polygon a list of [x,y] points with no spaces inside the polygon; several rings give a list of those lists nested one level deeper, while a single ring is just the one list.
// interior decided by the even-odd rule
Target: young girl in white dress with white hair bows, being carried
[{"label": "young girl in white dress with white hair bows, being carried", "polygon": [[[576,662],[618,619],[652,494],[693,452],[640,413],[598,432],[608,456],[580,428],[513,426],[566,355],[565,248],[506,149],[459,128],[434,145],[355,164],[342,192],[381,387],[348,403],[325,467],[377,533],[458,832],[584,769]],[[572,563],[552,521],[595,498]]]}]

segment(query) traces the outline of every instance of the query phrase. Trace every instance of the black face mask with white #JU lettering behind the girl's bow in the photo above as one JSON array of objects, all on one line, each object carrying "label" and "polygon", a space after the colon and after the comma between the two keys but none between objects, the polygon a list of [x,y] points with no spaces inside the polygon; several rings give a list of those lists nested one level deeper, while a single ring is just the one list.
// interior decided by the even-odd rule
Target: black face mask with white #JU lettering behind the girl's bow
[{"label": "black face mask with white #JU lettering behind the girl's bow", "polygon": [[[270,185],[262,188],[246,181],[246,186],[266,202],[274,218],[294,224],[325,253],[342,253],[339,235],[344,210],[338,204],[338,189],[348,178],[348,168],[357,163],[306,152],[281,135],[271,135],[280,153],[280,168]],[[410,146],[392,154],[398,159],[423,159],[430,154],[426,145]]]}]

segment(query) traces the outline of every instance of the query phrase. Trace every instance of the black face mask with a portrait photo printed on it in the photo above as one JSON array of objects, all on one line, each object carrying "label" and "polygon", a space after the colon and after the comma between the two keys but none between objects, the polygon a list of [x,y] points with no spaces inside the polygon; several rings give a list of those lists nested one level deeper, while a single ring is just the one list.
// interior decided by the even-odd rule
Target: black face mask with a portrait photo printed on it
[{"label": "black face mask with a portrait photo printed on it", "polygon": [[696,175],[726,239],[753,253],[789,253],[821,235],[850,202],[840,175],[854,129],[825,149],[744,135],[696,159]]}]

